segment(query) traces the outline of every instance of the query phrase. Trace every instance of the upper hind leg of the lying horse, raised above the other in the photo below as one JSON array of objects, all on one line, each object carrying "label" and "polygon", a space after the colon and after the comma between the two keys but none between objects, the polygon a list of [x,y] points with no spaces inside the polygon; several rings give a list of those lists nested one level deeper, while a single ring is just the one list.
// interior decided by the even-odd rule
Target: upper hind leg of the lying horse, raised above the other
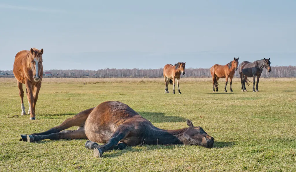
[{"label": "upper hind leg of the lying horse, raised above the other", "polygon": [[[62,130],[65,130],[67,128],[74,127],[74,126],[83,127],[87,117],[89,116],[89,114],[93,109],[94,108],[84,110],[78,113],[77,115],[75,115],[74,117],[66,119],[61,125],[57,127],[53,127],[45,132],[33,133],[31,135],[49,135],[52,133],[58,133]],[[25,142],[27,141],[27,135],[21,135],[21,137],[22,139],[20,139],[20,141],[25,141]]]}]

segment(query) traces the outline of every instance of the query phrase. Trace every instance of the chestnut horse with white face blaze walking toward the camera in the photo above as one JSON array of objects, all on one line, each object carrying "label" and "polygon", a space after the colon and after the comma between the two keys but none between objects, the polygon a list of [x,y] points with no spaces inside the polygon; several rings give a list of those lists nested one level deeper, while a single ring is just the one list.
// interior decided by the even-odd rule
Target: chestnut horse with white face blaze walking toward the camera
[{"label": "chestnut horse with white face blaze walking toward the camera", "polygon": [[24,90],[22,84],[26,85],[26,93],[28,97],[30,119],[35,119],[35,106],[38,94],[41,88],[43,65],[42,65],[43,49],[38,50],[31,48],[30,51],[22,50],[15,55],[15,63],[13,64],[13,74],[17,79],[17,87],[21,99],[21,115],[25,115],[24,106]]}]

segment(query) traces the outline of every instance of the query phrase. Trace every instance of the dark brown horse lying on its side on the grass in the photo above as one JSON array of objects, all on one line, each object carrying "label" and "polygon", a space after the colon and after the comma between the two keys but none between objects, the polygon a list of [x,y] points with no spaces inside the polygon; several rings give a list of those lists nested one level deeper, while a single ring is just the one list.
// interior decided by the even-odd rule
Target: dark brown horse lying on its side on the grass
[{"label": "dark brown horse lying on its side on the grass", "polygon": [[[34,142],[51,139],[89,139],[85,147],[94,149],[94,156],[102,156],[107,150],[124,149],[140,144],[184,144],[213,147],[214,138],[202,127],[194,127],[187,120],[189,128],[163,130],[152,125],[128,105],[119,101],[106,101],[95,108],[87,109],[66,119],[61,125],[46,132],[21,135],[23,141]],[[63,131],[78,126],[77,130]],[[98,143],[104,143],[98,145]],[[120,142],[120,143],[118,143]]]}]

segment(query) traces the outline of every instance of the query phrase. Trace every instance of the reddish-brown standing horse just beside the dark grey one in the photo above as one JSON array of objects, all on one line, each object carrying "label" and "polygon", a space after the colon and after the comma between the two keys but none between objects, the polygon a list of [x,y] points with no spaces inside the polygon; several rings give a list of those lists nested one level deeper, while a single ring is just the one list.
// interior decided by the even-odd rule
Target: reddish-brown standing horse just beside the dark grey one
[{"label": "reddish-brown standing horse just beside the dark grey one", "polygon": [[218,65],[215,64],[211,67],[211,75],[213,78],[213,91],[218,91],[218,80],[219,78],[226,78],[224,91],[227,92],[226,86],[228,83],[228,78],[230,78],[230,91],[232,91],[231,85],[232,85],[232,78],[234,76],[235,71],[237,71],[237,67],[239,65],[239,58],[233,58],[233,61],[227,63],[226,65]]}]

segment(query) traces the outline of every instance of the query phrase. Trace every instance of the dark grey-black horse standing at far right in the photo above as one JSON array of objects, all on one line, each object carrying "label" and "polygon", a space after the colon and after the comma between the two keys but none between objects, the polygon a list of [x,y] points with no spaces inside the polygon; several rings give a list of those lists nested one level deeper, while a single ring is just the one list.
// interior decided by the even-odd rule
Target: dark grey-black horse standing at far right
[{"label": "dark grey-black horse standing at far right", "polygon": [[[266,68],[268,72],[271,71],[270,58],[263,58],[262,60],[256,60],[253,63],[244,61],[239,65],[239,75],[242,83],[242,92],[247,91],[246,84],[249,86],[250,80],[248,77],[253,77],[253,92],[258,92],[258,83],[263,68]],[[255,79],[257,76],[256,90],[255,90]]]}]

